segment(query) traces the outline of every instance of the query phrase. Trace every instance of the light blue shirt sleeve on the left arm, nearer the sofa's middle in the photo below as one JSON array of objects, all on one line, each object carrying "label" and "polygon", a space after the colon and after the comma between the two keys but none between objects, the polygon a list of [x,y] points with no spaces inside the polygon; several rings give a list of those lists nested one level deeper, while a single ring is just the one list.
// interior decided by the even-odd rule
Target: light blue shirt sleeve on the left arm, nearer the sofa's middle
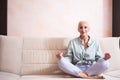
[{"label": "light blue shirt sleeve on the left arm, nearer the sofa's middle", "polygon": [[72,62],[72,56],[73,56],[72,41],[70,41],[68,44],[68,49],[65,59],[67,59],[69,62]]}]

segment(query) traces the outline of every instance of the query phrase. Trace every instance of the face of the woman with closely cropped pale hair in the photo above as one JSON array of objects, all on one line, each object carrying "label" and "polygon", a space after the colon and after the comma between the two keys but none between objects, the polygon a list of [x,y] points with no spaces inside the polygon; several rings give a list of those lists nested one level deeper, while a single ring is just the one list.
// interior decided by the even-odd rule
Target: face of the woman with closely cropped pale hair
[{"label": "face of the woman with closely cropped pale hair", "polygon": [[80,32],[80,35],[88,35],[89,27],[87,22],[80,22],[78,25],[78,31]]}]

